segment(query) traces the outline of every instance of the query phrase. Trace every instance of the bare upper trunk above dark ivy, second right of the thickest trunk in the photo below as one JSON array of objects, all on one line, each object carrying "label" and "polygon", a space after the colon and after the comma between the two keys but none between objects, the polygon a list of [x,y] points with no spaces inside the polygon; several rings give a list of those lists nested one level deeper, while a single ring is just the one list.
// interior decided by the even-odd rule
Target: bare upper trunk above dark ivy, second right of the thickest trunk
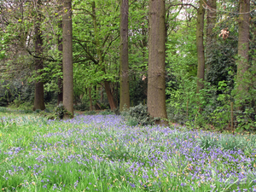
[{"label": "bare upper trunk above dark ivy, second right of the thickest trunk", "polygon": [[[217,18],[217,6],[216,0],[208,0],[207,1],[207,73],[211,70],[213,65],[210,62],[209,57],[211,55],[212,44],[216,44],[216,34],[213,32],[213,28],[216,25],[216,18]],[[207,78],[207,77],[206,77]]]}]

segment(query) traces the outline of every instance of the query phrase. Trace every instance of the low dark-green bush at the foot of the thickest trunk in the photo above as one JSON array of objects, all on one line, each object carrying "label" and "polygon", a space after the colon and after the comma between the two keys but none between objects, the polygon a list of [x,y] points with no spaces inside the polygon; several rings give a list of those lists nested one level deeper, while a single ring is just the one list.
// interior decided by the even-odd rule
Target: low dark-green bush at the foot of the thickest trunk
[{"label": "low dark-green bush at the foot of the thickest trunk", "polygon": [[154,125],[154,119],[148,114],[148,107],[139,104],[129,109],[128,125]]}]

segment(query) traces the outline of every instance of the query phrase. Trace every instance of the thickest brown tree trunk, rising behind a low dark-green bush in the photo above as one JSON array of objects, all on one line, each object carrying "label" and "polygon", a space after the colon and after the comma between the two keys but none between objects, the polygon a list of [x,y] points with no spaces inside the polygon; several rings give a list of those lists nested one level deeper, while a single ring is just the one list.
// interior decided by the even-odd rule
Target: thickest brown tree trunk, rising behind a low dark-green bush
[{"label": "thickest brown tree trunk, rising behind a low dark-green bush", "polygon": [[165,7],[165,0],[149,0],[148,113],[164,119],[167,118]]}]

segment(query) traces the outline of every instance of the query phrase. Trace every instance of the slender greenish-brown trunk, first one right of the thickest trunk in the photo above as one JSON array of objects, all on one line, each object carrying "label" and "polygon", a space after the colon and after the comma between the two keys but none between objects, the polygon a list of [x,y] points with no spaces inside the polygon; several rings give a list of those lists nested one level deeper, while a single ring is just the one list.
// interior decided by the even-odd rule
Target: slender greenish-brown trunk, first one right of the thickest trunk
[{"label": "slender greenish-brown trunk, first one right of the thickest trunk", "polygon": [[196,92],[198,93],[204,87],[204,84],[201,82],[205,78],[205,51],[204,51],[204,15],[205,9],[203,8],[203,0],[200,0],[200,7],[197,10],[197,24],[196,24],[196,48],[197,48],[197,88]]}]

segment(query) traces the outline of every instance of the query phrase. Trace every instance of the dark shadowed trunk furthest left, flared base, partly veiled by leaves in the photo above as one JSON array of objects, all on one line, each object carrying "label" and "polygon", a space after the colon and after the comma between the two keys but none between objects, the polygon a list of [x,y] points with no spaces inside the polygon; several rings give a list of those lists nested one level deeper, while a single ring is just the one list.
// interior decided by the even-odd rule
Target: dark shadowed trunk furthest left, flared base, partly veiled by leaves
[{"label": "dark shadowed trunk furthest left, flared base, partly veiled by leaves", "polygon": [[[38,76],[42,74],[42,72],[38,72],[39,70],[44,69],[44,60],[43,58],[43,38],[42,38],[42,31],[41,31],[41,21],[42,21],[42,15],[39,11],[40,6],[42,5],[41,0],[38,0],[37,2],[37,9],[38,13],[36,15],[36,20],[35,20],[35,55],[37,56],[35,58],[35,69],[36,72],[38,73]],[[41,57],[41,58],[40,58]],[[35,98],[34,98],[34,107],[33,110],[41,109],[44,110],[44,82],[38,81],[35,84]]]}]

